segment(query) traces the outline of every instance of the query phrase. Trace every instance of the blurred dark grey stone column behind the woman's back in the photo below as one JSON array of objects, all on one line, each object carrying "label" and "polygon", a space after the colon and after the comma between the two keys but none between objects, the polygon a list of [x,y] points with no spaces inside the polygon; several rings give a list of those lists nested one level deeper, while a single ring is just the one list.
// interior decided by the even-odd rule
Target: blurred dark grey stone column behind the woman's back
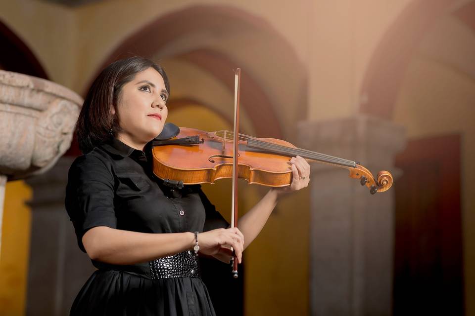
[{"label": "blurred dark grey stone column behind the woman's back", "polygon": [[27,180],[33,197],[26,315],[69,315],[74,298],[95,270],[79,249],[64,208],[72,161],[62,157],[45,174]]}]

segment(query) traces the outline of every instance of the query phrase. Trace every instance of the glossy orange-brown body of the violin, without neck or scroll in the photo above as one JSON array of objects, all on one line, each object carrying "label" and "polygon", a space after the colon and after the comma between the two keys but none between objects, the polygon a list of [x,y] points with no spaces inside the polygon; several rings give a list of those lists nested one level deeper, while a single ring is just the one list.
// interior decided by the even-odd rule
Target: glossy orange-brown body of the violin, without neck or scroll
[{"label": "glossy orange-brown body of the violin, without neck or scroll", "polygon": [[[183,180],[184,184],[214,183],[231,178],[233,167],[233,141],[215,133],[180,127],[176,138],[199,135],[204,142],[198,145],[156,146],[152,150],[153,172],[161,179]],[[290,143],[278,139],[265,139]],[[249,184],[285,187],[291,181],[289,158],[272,153],[262,153],[239,141],[238,177]],[[186,167],[184,167],[186,166]]]}]

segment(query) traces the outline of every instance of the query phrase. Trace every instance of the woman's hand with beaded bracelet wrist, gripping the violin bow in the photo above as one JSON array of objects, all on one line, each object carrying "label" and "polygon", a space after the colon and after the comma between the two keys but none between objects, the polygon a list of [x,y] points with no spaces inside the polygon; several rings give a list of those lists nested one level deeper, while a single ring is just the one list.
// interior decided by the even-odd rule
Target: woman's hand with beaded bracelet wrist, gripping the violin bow
[{"label": "woman's hand with beaded bracelet wrist, gripping the violin bow", "polygon": [[[244,250],[244,235],[234,228],[219,228],[198,234],[199,252],[205,255],[226,255],[233,257],[236,254],[241,263],[242,251]],[[230,249],[233,247],[233,251]]]}]

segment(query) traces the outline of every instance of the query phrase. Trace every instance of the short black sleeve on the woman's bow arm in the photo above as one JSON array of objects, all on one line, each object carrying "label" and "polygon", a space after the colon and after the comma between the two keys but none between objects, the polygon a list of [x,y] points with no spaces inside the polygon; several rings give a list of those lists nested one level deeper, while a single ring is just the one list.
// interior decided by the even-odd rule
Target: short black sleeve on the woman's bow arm
[{"label": "short black sleeve on the woman's bow arm", "polygon": [[82,237],[89,229],[116,228],[114,177],[103,161],[90,155],[76,158],[68,173],[65,206],[84,252]]}]

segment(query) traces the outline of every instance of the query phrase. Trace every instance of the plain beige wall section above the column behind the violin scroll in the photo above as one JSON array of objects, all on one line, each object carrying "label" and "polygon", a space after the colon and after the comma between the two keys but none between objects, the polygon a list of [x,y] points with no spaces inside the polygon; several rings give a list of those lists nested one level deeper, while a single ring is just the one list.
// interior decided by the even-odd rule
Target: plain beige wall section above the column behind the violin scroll
[{"label": "plain beige wall section above the column behind the violin scroll", "polygon": [[308,118],[358,112],[363,76],[383,32],[411,0],[312,1]]}]

